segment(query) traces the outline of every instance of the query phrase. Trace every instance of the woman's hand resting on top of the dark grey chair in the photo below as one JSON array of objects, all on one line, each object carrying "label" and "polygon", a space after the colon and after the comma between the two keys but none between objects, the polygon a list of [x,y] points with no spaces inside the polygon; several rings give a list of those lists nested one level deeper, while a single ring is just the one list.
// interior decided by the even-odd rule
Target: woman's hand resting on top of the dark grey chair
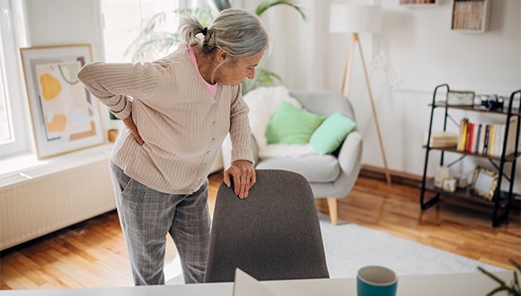
[{"label": "woman's hand resting on top of the dark grey chair", "polygon": [[227,187],[232,186],[234,180],[234,193],[243,199],[248,197],[250,189],[256,182],[255,168],[250,161],[234,161],[228,170],[225,170],[223,181]]}]

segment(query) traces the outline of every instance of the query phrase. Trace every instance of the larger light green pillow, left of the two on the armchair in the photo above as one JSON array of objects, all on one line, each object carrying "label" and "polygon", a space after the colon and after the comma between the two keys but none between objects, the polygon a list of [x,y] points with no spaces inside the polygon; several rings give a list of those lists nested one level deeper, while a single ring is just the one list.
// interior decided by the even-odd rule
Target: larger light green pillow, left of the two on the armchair
[{"label": "larger light green pillow, left of the two on the armchair", "polygon": [[324,117],[299,109],[283,100],[266,127],[268,144],[308,144]]}]

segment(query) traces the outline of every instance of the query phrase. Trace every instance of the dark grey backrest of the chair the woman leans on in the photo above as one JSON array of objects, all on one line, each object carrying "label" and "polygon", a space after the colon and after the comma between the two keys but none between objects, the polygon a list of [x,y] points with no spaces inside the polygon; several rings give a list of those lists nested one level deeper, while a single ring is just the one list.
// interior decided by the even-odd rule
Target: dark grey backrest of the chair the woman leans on
[{"label": "dark grey backrest of the chair the woman leans on", "polygon": [[329,277],[313,192],[302,175],[257,170],[243,200],[221,184],[205,282],[233,282],[236,267],[260,281]]}]

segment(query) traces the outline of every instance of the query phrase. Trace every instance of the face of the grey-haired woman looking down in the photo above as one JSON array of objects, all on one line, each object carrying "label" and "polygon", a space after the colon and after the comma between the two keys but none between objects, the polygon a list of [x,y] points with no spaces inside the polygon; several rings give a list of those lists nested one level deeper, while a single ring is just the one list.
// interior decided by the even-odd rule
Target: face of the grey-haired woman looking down
[{"label": "face of the grey-haired woman looking down", "polygon": [[[230,58],[223,53],[222,58]],[[216,73],[216,83],[223,85],[238,85],[243,83],[244,79],[253,79],[255,76],[255,67],[261,62],[264,51],[252,56],[239,58],[235,62],[222,65]]]}]

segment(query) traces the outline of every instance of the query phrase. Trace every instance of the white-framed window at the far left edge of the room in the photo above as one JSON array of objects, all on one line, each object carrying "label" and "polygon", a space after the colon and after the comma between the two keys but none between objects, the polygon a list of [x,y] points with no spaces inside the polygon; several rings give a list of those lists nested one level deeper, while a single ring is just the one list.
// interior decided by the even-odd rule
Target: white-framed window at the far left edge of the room
[{"label": "white-framed window at the far left edge of the room", "polygon": [[26,98],[22,95],[24,84],[16,44],[16,37],[22,39],[22,36],[17,35],[13,25],[13,15],[20,15],[13,13],[17,8],[9,0],[0,0],[0,159],[29,152],[26,131],[31,129],[26,128],[28,112],[24,108]]}]

